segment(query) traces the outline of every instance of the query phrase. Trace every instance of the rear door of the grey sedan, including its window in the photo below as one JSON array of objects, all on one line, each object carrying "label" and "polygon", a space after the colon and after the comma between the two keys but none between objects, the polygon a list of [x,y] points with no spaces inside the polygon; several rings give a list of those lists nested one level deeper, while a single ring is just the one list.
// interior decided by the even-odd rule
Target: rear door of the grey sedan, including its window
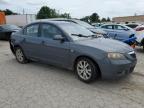
[{"label": "rear door of the grey sedan, including its window", "polygon": [[31,24],[24,28],[21,46],[26,56],[40,59],[42,40],[39,37],[39,24]]}]

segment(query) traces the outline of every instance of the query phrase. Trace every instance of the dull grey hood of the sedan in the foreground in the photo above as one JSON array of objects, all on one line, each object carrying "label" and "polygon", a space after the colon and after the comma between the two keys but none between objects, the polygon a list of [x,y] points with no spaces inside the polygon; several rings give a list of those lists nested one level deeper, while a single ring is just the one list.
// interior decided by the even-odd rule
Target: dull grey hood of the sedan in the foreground
[{"label": "dull grey hood of the sedan in the foreground", "polygon": [[80,45],[97,48],[105,52],[128,53],[133,51],[129,45],[113,39],[94,38],[88,40],[79,40],[77,42]]}]

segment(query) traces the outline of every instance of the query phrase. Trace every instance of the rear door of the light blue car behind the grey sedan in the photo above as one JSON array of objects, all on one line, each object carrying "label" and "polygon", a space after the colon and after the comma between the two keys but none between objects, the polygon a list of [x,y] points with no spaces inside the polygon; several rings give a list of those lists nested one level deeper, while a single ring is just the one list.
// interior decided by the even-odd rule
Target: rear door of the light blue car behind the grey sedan
[{"label": "rear door of the light blue car behind the grey sedan", "polygon": [[116,33],[114,31],[114,26],[113,25],[104,25],[102,26],[102,29],[107,32],[108,36],[110,38],[115,38]]}]

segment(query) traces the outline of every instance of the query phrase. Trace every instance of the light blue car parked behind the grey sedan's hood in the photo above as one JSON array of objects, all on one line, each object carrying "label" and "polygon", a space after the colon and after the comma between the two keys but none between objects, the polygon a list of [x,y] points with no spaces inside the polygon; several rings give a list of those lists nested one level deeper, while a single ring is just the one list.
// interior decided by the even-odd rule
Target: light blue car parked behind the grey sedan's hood
[{"label": "light blue car parked behind the grey sedan's hood", "polygon": [[132,40],[129,45],[133,45],[136,42],[135,30],[120,24],[105,24],[101,28],[108,33],[110,38],[126,42],[126,40]]}]

